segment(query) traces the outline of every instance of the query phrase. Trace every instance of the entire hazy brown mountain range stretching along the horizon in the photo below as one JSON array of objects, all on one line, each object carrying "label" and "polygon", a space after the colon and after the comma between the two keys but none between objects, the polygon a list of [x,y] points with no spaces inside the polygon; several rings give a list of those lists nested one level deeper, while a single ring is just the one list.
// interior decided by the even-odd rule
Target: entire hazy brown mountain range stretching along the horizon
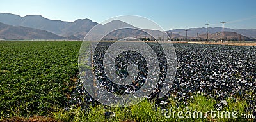
[{"label": "entire hazy brown mountain range stretching along the horizon", "polygon": [[[41,15],[27,15],[20,17],[10,13],[0,13],[0,39],[83,39],[92,27],[97,25],[97,22],[92,22],[89,19],[79,19],[74,22],[65,22],[61,20],[49,20]],[[107,24],[100,25],[102,31],[108,31],[112,27],[133,27],[125,22],[113,20]],[[199,33],[204,39],[205,28],[188,29],[188,37],[193,39]],[[209,27],[209,34],[212,37],[218,32],[222,31],[221,27]],[[155,33],[160,33],[159,30],[150,30]],[[225,32],[234,35],[234,38],[241,37],[244,39],[255,39],[256,29],[228,29]],[[172,36],[178,36],[181,32],[182,37],[186,36],[185,29],[168,30],[168,35],[172,32]],[[144,36],[145,32],[138,30],[120,30],[111,33],[109,37],[131,37]],[[231,35],[231,37],[232,37]],[[209,36],[210,37],[210,36]]]}]

